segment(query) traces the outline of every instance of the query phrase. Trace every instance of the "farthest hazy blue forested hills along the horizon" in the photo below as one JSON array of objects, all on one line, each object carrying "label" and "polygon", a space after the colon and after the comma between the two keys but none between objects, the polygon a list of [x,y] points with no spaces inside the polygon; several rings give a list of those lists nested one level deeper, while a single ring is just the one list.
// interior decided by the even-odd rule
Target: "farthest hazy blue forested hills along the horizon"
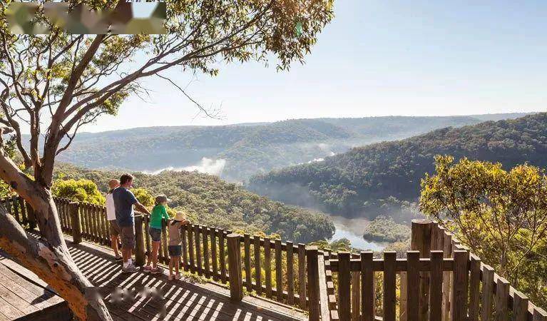
[{"label": "farthest hazy blue forested hills along the horizon", "polygon": [[200,170],[230,181],[318,161],[354,146],[518,113],[447,117],[315,118],[232,126],[134,128],[82,133],[59,160],[87,168]]}]

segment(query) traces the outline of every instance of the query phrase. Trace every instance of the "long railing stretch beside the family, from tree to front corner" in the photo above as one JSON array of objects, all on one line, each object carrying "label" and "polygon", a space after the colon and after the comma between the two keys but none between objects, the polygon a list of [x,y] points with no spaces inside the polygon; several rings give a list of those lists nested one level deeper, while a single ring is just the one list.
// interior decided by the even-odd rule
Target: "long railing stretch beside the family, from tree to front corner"
[{"label": "long railing stretch beside the family, from tree to front corner", "polygon": [[[72,235],[76,243],[88,240],[110,246],[108,221],[103,206],[71,202],[63,198],[55,198],[55,202],[63,232]],[[148,215],[136,213],[137,265],[145,264],[145,258],[151,250],[149,223]],[[163,220],[162,225],[158,262],[168,265],[167,222]],[[237,277],[239,273],[241,286],[235,293],[236,297],[247,290],[302,310],[307,309],[306,245],[257,235],[237,235],[230,230],[194,224],[183,226],[181,240],[183,253],[180,266],[184,270],[233,288],[234,282],[230,282],[230,277]],[[232,255],[230,240],[235,244],[231,248]],[[232,258],[239,259],[232,260],[230,265]],[[235,264],[237,262],[239,265]],[[233,267],[231,270],[230,266]]]}]

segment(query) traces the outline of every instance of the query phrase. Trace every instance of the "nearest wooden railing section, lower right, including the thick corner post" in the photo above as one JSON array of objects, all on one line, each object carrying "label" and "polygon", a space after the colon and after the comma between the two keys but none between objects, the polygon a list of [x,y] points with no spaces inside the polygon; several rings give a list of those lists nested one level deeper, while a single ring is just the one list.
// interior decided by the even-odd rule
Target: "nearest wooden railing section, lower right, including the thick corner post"
[{"label": "nearest wooden railing section, lower right, including the thick corner post", "polygon": [[438,224],[414,220],[411,248],[399,259],[395,252],[323,253],[322,320],[547,320]]}]

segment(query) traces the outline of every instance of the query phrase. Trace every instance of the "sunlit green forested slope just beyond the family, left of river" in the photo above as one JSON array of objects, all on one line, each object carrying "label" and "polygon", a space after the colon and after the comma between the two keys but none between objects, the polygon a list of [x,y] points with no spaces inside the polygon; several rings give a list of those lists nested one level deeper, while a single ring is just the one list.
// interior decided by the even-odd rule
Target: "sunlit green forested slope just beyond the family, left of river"
[{"label": "sunlit green forested slope just beyond the family, left of river", "polygon": [[[120,175],[121,172],[67,164],[56,167],[56,179],[86,178],[103,192],[108,190],[108,180]],[[170,208],[185,210],[195,223],[248,233],[279,234],[285,240],[299,243],[329,239],[334,234],[332,220],[324,213],[269,200],[213,175],[185,171],[133,175],[136,188],[145,188],[152,195],[167,195]]]}]

